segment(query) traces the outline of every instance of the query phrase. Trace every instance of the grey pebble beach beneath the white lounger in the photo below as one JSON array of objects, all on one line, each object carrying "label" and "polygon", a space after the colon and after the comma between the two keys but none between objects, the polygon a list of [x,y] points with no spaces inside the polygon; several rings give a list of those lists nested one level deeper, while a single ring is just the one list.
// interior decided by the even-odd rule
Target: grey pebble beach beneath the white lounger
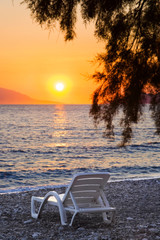
[{"label": "grey pebble beach beneath the white lounger", "polygon": [[40,219],[33,219],[31,196],[50,190],[62,193],[65,187],[1,194],[0,240],[160,240],[160,178],[108,182],[105,193],[116,207],[109,226],[100,214],[78,215],[72,227],[61,226],[58,209],[51,206],[45,207]]}]

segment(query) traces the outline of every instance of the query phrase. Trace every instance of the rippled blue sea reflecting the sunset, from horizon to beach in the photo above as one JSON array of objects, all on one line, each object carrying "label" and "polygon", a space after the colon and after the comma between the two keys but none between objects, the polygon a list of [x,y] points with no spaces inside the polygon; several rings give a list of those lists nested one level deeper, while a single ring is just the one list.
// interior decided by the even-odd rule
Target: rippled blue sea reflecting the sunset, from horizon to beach
[{"label": "rippled blue sea reflecting the sunset, from horizon to beach", "polygon": [[115,140],[103,138],[103,125],[94,128],[89,109],[0,105],[0,192],[66,184],[88,170],[108,171],[112,180],[160,176],[160,139],[147,107],[126,148],[118,147],[119,127]]}]

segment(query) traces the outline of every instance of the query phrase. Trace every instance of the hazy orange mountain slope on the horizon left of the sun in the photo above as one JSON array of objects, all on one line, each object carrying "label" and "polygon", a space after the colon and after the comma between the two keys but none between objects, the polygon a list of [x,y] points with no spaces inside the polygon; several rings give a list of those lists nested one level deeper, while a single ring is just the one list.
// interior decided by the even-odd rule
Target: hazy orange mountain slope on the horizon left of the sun
[{"label": "hazy orange mountain slope on the horizon left of the sun", "polygon": [[22,93],[0,88],[0,104],[56,104],[57,102],[37,100]]}]

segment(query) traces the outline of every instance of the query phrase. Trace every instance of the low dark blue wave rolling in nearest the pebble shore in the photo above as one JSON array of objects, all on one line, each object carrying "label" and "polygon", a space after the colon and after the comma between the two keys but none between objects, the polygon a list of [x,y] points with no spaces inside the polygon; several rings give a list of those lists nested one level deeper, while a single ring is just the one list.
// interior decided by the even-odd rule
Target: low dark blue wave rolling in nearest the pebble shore
[{"label": "low dark blue wave rolling in nearest the pebble shore", "polygon": [[[150,167],[130,167],[130,166],[122,166],[122,167],[110,167],[110,168],[75,168],[70,170],[65,170],[62,168],[59,169],[48,169],[46,171],[5,171],[0,172],[1,179],[5,181],[5,184],[0,185],[0,193],[4,192],[4,189],[12,189],[16,188],[16,186],[37,186],[38,185],[57,185],[57,184],[66,184],[69,180],[72,179],[73,174],[78,172],[88,172],[88,171],[100,171],[100,172],[108,172],[111,175],[112,180],[122,180],[122,179],[133,179],[144,178],[144,177],[158,177],[160,172],[160,166],[150,166]],[[10,181],[14,181],[15,184],[10,185]]]}]

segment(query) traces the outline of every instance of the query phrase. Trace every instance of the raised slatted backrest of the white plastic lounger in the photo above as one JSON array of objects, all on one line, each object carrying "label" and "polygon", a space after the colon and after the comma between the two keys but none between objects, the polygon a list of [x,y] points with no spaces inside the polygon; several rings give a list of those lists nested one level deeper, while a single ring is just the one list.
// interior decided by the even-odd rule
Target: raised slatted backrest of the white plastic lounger
[{"label": "raised slatted backrest of the white plastic lounger", "polygon": [[104,189],[108,179],[108,173],[76,174],[64,195],[64,205],[73,205],[71,194],[77,206],[92,204],[99,197],[100,189]]}]

